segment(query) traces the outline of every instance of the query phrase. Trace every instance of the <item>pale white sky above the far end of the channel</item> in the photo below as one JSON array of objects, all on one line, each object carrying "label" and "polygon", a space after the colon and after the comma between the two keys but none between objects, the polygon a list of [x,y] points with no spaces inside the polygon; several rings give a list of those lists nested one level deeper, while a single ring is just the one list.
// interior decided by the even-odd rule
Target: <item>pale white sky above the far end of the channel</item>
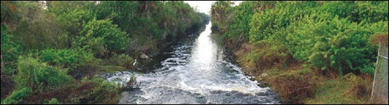
[{"label": "pale white sky above the far end of the channel", "polygon": [[[201,13],[206,13],[209,15],[209,11],[211,10],[211,5],[214,1],[184,1],[185,3],[189,3],[190,6],[196,7],[197,10]],[[239,5],[241,1],[234,1],[235,5]]]}]

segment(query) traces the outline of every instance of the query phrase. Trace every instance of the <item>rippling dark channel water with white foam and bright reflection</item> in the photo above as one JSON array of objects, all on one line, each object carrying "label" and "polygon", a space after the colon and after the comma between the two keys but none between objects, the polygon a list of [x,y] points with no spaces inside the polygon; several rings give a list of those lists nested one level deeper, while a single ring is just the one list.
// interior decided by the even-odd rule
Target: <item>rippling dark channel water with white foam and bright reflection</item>
[{"label": "rippling dark channel water with white foam and bright reflection", "polygon": [[[174,43],[148,73],[134,73],[138,89],[123,92],[119,104],[280,104],[269,87],[245,76],[211,34],[211,23],[199,36]],[[108,81],[128,81],[132,72],[106,74]]]}]

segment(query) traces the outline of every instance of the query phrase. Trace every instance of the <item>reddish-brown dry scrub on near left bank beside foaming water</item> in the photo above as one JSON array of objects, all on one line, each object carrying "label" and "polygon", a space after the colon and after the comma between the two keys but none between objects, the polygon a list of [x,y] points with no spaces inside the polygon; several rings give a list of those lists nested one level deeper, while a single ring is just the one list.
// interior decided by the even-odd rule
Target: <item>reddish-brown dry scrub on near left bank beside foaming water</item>
[{"label": "reddish-brown dry scrub on near left bank beside foaming water", "polygon": [[62,104],[117,104],[120,91],[114,87],[102,78],[73,80],[59,89],[31,94],[19,104],[45,104],[53,98]]}]

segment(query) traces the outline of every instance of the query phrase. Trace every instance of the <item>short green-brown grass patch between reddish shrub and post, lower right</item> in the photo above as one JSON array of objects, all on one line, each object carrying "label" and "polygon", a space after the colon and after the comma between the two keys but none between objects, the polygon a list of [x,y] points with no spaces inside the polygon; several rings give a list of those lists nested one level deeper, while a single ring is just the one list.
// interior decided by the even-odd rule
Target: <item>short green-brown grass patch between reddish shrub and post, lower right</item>
[{"label": "short green-brown grass patch between reddish shrub and post, lower right", "polygon": [[[353,79],[351,79],[353,78]],[[356,79],[354,79],[356,78]],[[358,83],[358,81],[362,81]],[[367,93],[358,94],[354,92],[355,87],[358,84],[370,85],[371,84],[362,78],[357,76],[341,77],[336,79],[324,80],[319,82],[316,86],[314,97],[306,99],[305,104],[371,104],[369,102],[369,93],[371,89],[368,89]],[[371,87],[370,87],[371,88]]]}]

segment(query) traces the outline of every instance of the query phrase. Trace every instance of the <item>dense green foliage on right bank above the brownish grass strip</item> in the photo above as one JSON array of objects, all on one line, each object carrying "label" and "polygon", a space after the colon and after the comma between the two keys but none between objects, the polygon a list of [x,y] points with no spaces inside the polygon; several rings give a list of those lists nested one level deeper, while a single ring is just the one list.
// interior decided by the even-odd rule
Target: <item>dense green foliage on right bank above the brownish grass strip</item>
[{"label": "dense green foliage on right bank above the brownish grass strip", "polygon": [[[243,1],[234,7],[218,1],[211,16],[226,41],[237,47],[272,43],[316,69],[372,74],[376,45],[369,42],[375,34],[388,34],[386,7],[388,1]],[[271,52],[247,57],[256,62],[266,53]]]}]

